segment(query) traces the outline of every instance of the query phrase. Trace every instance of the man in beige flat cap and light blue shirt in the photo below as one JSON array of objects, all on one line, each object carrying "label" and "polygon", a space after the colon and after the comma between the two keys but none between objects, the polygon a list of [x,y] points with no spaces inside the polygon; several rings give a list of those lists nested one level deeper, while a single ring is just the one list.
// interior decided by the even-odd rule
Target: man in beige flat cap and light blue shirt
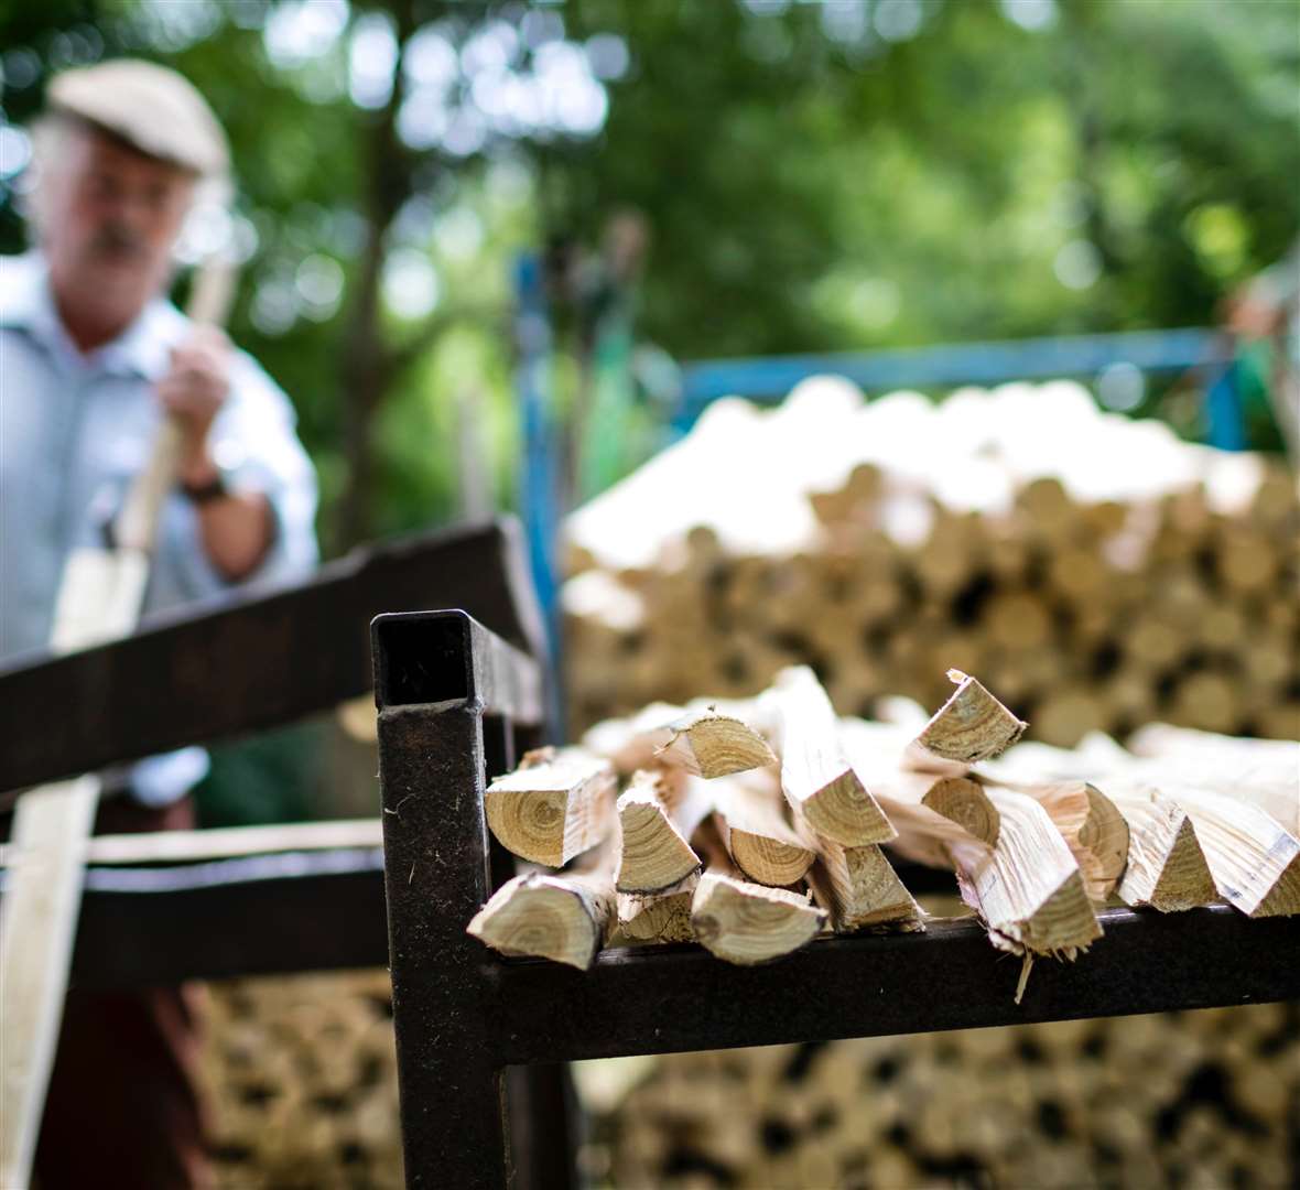
[{"label": "man in beige flat cap and light blue shirt", "polygon": [[[166,298],[173,247],[228,148],[170,70],[55,78],[35,130],[38,250],[0,259],[0,657],[43,648],[62,566],[104,544],[164,416],[181,430],[146,613],[316,562],[316,484],[278,388]],[[130,697],[130,692],[122,692]],[[194,822],[207,754],[105,775],[99,831]],[[47,1190],[207,1180],[181,988],[69,996],[36,1155]]]}]

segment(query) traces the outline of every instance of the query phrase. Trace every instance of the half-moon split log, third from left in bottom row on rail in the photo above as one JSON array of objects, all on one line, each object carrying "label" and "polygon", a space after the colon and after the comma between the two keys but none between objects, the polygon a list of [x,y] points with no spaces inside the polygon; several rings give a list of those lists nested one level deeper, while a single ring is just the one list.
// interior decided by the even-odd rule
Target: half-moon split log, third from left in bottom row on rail
[{"label": "half-moon split log, third from left in bottom row on rail", "polygon": [[690,906],[696,938],[719,959],[741,966],[797,951],[816,938],[826,917],[806,895],[753,884],[719,864],[699,878]]}]

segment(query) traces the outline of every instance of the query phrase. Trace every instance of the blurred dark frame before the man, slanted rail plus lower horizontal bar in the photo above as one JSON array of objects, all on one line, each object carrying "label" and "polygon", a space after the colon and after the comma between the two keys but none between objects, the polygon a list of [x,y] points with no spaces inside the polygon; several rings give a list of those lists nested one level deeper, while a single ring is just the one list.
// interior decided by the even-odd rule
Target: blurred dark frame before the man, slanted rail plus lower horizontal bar
[{"label": "blurred dark frame before the man, slanted rail plus lower horizontal bar", "polygon": [[[545,655],[515,522],[358,550],[298,587],[155,618],[135,636],[94,649],[8,661],[0,667],[0,791],[278,726],[365,694],[370,618],[432,602],[472,607],[514,645]],[[382,966],[384,912],[378,847],[92,865],[72,983],[139,987]]]}]

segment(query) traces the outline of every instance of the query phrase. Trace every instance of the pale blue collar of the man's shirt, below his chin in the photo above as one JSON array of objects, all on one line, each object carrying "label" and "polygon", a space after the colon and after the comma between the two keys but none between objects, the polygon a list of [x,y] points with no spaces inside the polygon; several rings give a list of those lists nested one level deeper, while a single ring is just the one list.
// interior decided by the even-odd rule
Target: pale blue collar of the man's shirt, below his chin
[{"label": "pale blue collar of the man's shirt, below his chin", "polygon": [[155,298],[116,339],[82,356],[64,329],[49,290],[49,271],[39,252],[5,256],[0,264],[0,326],[26,330],[44,347],[118,376],[161,380],[170,351],[186,337],[188,320],[170,302]]}]

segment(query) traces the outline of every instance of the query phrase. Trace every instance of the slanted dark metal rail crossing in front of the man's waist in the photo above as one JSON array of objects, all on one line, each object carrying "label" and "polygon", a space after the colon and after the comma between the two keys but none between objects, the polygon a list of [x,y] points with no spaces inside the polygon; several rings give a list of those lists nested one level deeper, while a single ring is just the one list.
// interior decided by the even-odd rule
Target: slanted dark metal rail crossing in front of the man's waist
[{"label": "slanted dark metal rail crossing in front of the man's waist", "polygon": [[126,640],[0,666],[0,789],[291,723],[370,689],[380,611],[469,607],[543,657],[512,520],[330,563],[307,584],[156,616]]}]

